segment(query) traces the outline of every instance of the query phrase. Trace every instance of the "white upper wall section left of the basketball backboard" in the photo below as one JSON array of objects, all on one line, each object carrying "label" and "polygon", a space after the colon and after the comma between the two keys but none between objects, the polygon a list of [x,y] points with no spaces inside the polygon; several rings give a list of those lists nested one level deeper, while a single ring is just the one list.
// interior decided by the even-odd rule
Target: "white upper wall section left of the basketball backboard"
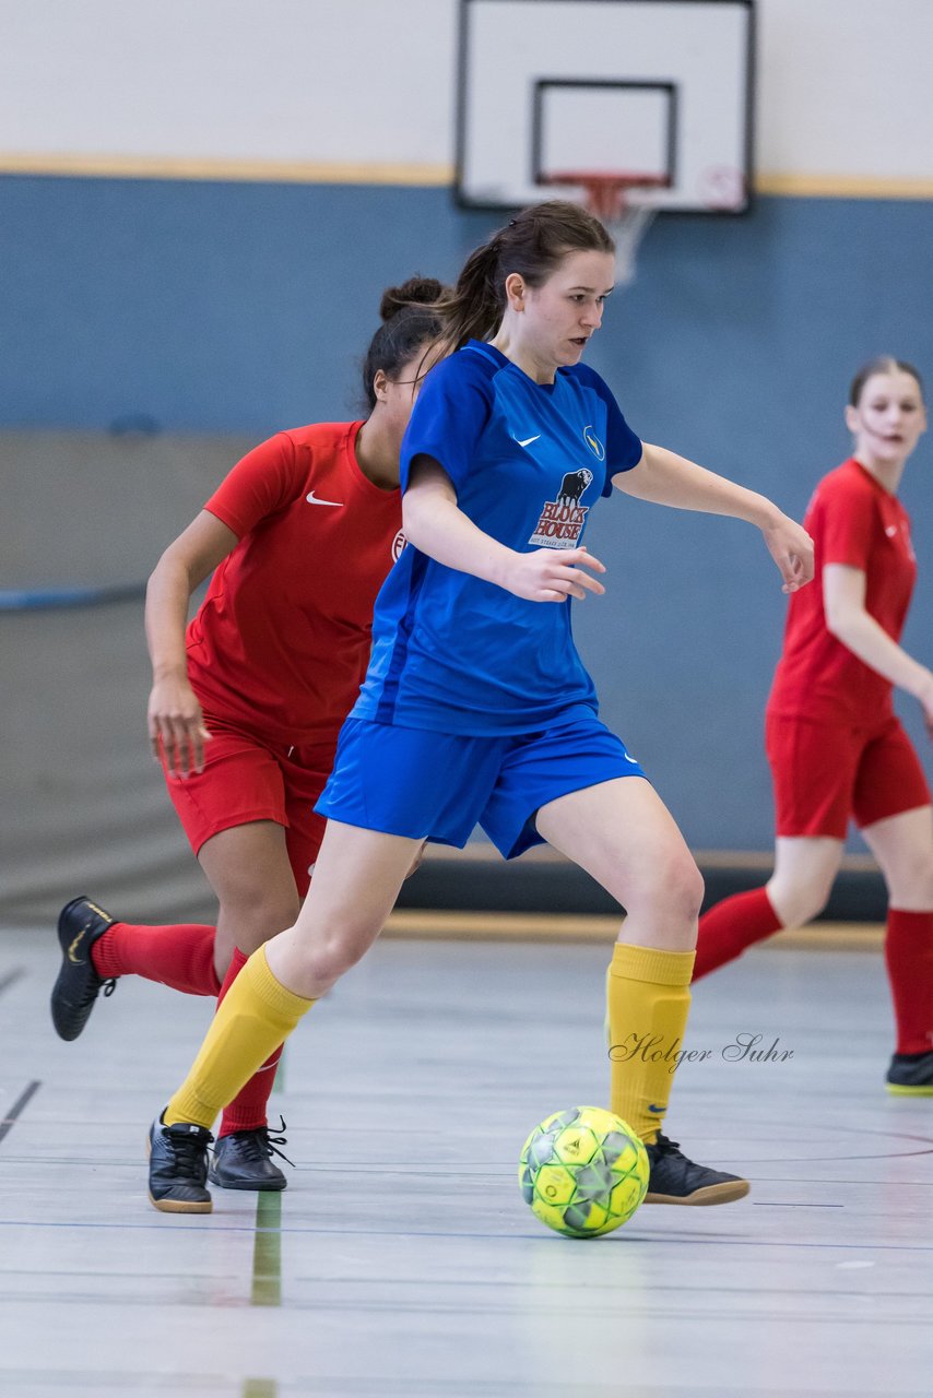
[{"label": "white upper wall section left of the basketball backboard", "polygon": [[7,151],[450,158],[453,0],[0,0]]}]

